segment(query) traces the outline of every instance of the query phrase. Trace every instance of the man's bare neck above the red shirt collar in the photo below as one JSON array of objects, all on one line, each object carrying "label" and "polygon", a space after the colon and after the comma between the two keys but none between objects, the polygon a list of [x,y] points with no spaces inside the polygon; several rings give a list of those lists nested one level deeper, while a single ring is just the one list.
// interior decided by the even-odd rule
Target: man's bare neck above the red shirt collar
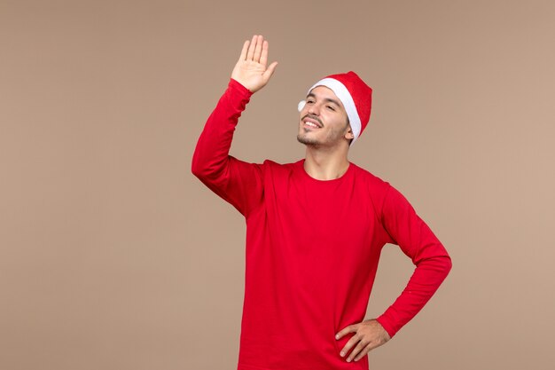
[{"label": "man's bare neck above the red shirt collar", "polygon": [[317,180],[333,180],[347,172],[349,166],[347,150],[324,152],[313,146],[307,146],[304,170]]}]

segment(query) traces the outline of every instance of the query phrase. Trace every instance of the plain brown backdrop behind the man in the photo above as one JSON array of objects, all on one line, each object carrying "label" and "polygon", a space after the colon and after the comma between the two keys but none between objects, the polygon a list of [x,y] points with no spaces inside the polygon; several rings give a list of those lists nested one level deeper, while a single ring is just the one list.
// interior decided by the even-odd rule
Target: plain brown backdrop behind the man
[{"label": "plain brown backdrop behind the man", "polygon": [[[552,1],[0,1],[0,368],[235,369],[245,223],[192,177],[244,40],[278,60],[232,153],[295,161],[324,75],[374,89],[351,161],[453,270],[372,369],[555,363]],[[413,266],[382,255],[367,318]]]}]

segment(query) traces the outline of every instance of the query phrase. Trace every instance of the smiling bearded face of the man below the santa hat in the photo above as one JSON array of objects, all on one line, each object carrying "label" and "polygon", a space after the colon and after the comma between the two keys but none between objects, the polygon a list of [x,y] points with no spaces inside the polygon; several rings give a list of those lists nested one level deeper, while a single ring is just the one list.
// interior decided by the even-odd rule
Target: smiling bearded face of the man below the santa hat
[{"label": "smiling bearded face of the man below the santa hat", "polygon": [[317,86],[309,92],[300,116],[297,140],[302,144],[332,147],[343,141],[348,144],[353,138],[345,107],[325,86]]}]

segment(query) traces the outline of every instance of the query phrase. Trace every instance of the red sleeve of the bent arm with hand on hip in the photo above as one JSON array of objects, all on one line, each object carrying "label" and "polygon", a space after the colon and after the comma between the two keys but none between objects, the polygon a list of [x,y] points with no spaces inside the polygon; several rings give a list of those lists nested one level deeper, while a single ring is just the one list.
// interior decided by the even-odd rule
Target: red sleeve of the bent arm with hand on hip
[{"label": "red sleeve of the bent arm with hand on hip", "polygon": [[387,310],[377,318],[393,337],[420,311],[440,287],[451,269],[451,258],[440,240],[417,215],[409,201],[389,186],[382,208],[382,223],[416,268],[404,288]]}]

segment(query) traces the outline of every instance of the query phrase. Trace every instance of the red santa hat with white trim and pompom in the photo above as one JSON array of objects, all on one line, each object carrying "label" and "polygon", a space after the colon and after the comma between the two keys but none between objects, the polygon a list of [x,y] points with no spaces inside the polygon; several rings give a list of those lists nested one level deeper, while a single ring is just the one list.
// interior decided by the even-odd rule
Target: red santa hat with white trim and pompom
[{"label": "red santa hat with white trim and pompom", "polygon": [[[371,87],[364,83],[353,71],[349,71],[346,74],[328,75],[324,77],[322,80],[312,85],[307,95],[317,86],[325,86],[331,89],[337,98],[341,100],[341,103],[347,111],[348,121],[353,130],[353,135],[355,136],[351,142],[351,145],[353,145],[356,138],[363,133],[363,130],[370,120]],[[301,100],[298,106],[299,112],[301,112],[305,104],[306,101]]]}]

